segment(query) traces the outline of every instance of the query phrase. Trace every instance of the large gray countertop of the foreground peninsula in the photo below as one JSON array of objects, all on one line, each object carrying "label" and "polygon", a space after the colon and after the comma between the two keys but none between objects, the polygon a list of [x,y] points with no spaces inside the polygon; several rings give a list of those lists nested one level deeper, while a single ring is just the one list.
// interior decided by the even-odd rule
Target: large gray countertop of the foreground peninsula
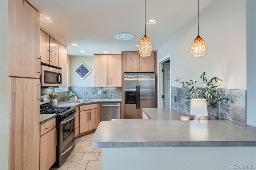
[{"label": "large gray countertop of the foreground peninsula", "polygon": [[256,146],[256,128],[232,121],[103,121],[96,148]]}]

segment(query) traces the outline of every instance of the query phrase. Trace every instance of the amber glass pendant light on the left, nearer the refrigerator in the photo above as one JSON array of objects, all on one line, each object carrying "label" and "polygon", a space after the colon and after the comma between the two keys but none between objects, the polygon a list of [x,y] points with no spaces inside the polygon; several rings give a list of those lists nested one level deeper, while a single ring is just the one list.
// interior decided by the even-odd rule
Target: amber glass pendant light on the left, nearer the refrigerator
[{"label": "amber glass pendant light on the left, nearer the refrigerator", "polygon": [[152,44],[146,36],[146,0],[145,0],[145,36],[140,40],[139,53],[141,57],[148,57],[152,52]]}]

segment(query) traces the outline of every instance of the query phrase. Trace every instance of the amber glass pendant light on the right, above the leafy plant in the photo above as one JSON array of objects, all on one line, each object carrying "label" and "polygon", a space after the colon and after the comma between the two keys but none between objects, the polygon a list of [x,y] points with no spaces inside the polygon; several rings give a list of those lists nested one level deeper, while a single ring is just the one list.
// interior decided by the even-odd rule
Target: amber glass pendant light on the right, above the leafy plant
[{"label": "amber glass pendant light on the right, above the leafy plant", "polygon": [[191,45],[191,54],[193,57],[201,57],[206,51],[206,43],[199,36],[199,0],[198,0],[198,36]]}]

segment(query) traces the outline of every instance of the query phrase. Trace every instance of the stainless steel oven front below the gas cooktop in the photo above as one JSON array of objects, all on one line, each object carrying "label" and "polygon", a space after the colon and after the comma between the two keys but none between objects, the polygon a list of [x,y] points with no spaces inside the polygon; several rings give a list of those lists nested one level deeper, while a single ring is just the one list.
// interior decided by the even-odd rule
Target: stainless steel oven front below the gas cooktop
[{"label": "stainless steel oven front below the gas cooktop", "polygon": [[60,121],[59,166],[68,157],[75,146],[75,113]]}]

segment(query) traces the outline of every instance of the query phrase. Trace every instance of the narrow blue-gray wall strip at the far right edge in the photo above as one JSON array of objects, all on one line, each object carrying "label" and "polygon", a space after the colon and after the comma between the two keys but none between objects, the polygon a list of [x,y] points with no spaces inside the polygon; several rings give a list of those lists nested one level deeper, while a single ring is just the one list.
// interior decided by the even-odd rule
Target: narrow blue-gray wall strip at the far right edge
[{"label": "narrow blue-gray wall strip at the far right edge", "polygon": [[256,1],[246,1],[247,125],[256,127]]}]

